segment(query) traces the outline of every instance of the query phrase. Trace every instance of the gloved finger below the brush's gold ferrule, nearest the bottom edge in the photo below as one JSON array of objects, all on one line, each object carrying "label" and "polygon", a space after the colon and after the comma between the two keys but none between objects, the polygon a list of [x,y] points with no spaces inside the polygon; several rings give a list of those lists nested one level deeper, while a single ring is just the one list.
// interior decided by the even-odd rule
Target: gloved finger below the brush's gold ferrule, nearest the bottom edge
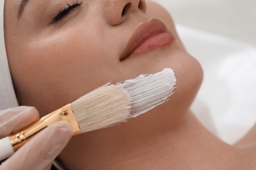
[{"label": "gloved finger below the brush's gold ferrule, nearest the bottom edge", "polygon": [[67,122],[49,126],[2,163],[5,169],[43,169],[60,154],[73,135]]}]

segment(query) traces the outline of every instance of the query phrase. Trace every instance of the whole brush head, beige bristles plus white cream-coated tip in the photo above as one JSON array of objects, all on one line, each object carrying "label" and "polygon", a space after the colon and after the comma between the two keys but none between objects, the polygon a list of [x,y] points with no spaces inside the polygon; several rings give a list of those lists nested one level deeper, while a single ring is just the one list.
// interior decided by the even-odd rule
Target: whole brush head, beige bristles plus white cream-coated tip
[{"label": "whole brush head, beige bristles plus white cream-coated tip", "polygon": [[71,105],[84,133],[125,122],[165,103],[173,94],[176,82],[173,70],[164,69],[116,85],[106,84]]}]

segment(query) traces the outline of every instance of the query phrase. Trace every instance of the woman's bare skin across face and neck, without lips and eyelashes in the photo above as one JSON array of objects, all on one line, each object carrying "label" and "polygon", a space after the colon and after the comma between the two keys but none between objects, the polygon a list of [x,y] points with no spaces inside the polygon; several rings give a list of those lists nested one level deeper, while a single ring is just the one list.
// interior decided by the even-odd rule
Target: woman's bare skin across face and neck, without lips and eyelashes
[{"label": "woman's bare skin across face and neck, without lips and eyelashes", "polygon": [[[53,24],[54,14],[75,2],[81,5]],[[68,169],[256,168],[255,144],[223,143],[190,112],[202,67],[186,52],[163,7],[144,0],[30,0],[18,19],[19,3],[5,3],[9,65],[19,104],[36,107],[41,116],[109,81],[165,67],[177,76],[167,103],[127,124],[74,137],[59,156]],[[175,41],[120,61],[135,29],[150,18],[163,21]]]}]

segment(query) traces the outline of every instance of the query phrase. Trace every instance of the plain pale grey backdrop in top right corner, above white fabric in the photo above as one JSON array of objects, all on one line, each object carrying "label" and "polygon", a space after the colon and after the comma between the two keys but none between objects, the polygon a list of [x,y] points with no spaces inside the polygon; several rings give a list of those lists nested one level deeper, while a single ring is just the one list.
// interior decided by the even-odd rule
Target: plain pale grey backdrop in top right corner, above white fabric
[{"label": "plain pale grey backdrop in top right corner, above white fabric", "polygon": [[255,0],[156,0],[175,22],[256,47]]}]

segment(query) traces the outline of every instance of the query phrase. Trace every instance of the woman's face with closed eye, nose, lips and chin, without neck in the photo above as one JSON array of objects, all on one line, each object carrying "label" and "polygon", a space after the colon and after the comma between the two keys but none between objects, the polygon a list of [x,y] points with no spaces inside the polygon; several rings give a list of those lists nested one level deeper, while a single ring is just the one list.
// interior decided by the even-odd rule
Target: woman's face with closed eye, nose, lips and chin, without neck
[{"label": "woman's face with closed eye, nose, lips and chin, without neck", "polygon": [[171,18],[154,3],[147,10],[144,0],[6,0],[5,40],[20,105],[42,114],[107,82],[165,67],[175,71],[183,105],[202,80]]}]

